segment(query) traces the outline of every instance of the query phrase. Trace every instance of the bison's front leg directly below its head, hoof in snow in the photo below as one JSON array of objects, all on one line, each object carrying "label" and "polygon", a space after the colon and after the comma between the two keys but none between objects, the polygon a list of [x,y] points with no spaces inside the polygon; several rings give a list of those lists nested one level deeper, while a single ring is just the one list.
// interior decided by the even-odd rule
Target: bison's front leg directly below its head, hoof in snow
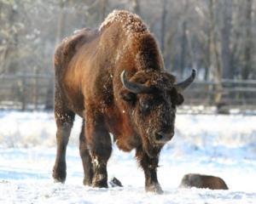
[{"label": "bison's front leg directly below its head, hoof in snow", "polygon": [[155,192],[162,194],[163,190],[160,187],[160,184],[157,179],[157,167],[159,156],[158,154],[154,157],[149,157],[142,147],[137,148],[136,151],[137,160],[140,165],[143,167],[145,173],[145,188],[149,192]]}]

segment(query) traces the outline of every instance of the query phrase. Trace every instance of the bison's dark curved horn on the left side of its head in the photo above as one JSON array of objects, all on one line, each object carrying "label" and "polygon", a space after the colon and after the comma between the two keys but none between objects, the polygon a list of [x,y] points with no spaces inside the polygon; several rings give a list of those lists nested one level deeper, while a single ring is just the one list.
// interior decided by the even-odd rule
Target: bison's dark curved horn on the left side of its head
[{"label": "bison's dark curved horn on the left side of its head", "polygon": [[153,88],[149,88],[143,84],[140,84],[140,83],[137,83],[137,82],[130,82],[128,79],[127,79],[127,76],[126,76],[126,71],[122,71],[121,73],[121,81],[124,85],[124,87],[131,91],[131,93],[134,93],[134,94],[143,94],[143,93],[149,93],[149,92],[152,92]]}]

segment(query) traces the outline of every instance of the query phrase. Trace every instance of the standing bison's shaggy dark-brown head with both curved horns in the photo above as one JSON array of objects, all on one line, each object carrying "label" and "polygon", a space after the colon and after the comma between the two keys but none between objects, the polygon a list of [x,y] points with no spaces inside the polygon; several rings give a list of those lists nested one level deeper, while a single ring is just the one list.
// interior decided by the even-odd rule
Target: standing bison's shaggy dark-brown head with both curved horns
[{"label": "standing bison's shaggy dark-brown head with both curved horns", "polygon": [[184,82],[175,83],[167,72],[138,71],[130,79],[125,71],[121,74],[124,89],[122,99],[128,105],[131,121],[142,137],[143,149],[151,154],[174,135],[177,105],[183,103],[183,90],[195,79],[195,70]]}]

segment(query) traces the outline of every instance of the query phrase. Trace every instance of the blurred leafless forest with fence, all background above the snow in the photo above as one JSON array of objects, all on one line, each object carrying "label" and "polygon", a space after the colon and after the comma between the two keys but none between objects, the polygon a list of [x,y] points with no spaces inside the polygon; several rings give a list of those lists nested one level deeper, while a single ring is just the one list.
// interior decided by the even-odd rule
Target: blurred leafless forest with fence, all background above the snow
[{"label": "blurred leafless forest with fence, all background above the snow", "polygon": [[55,46],[113,9],[139,14],[189,105],[256,105],[256,0],[0,0],[0,107],[50,109]]}]

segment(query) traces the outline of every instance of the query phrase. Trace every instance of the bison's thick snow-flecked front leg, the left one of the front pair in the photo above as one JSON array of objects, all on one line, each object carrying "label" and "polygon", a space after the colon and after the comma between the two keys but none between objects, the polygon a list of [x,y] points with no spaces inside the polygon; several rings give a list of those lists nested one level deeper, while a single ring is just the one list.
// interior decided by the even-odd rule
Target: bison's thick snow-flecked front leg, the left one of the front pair
[{"label": "bison's thick snow-flecked front leg, the left one of the front pair", "polygon": [[111,155],[112,144],[103,117],[100,114],[88,114],[85,132],[93,164],[92,186],[108,188],[107,163]]}]

